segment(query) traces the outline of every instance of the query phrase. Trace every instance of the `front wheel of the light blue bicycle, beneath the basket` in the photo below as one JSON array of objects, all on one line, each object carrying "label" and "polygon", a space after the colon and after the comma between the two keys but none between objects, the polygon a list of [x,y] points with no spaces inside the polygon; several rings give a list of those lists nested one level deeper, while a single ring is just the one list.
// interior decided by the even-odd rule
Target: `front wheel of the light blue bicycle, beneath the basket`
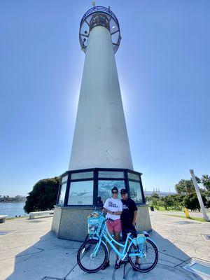
[{"label": "front wheel of the light blue bicycle, beneath the basket", "polygon": [[98,246],[99,240],[90,239],[85,241],[78,249],[77,262],[84,272],[94,273],[105,265],[108,251],[103,243]]}]

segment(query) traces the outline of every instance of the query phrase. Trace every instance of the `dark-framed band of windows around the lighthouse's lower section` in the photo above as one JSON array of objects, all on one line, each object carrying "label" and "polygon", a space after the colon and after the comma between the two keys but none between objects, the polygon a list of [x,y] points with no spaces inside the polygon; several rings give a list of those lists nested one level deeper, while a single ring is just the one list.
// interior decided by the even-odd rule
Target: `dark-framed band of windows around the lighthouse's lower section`
[{"label": "dark-framed band of windows around the lighthouse's lower section", "polygon": [[57,206],[102,207],[111,189],[125,188],[136,204],[145,204],[141,173],[129,169],[83,169],[62,174]]}]

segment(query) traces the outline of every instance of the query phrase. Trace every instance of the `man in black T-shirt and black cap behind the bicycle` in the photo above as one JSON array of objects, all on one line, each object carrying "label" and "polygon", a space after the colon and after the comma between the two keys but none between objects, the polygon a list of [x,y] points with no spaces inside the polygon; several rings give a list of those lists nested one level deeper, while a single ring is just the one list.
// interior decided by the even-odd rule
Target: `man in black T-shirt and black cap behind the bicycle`
[{"label": "man in black T-shirt and black cap behind the bicycle", "polygon": [[[122,222],[122,237],[125,241],[127,238],[127,233],[131,232],[133,237],[137,237],[136,222],[137,222],[137,205],[130,197],[127,195],[127,190],[122,188],[120,190],[123,203],[123,213],[121,214]],[[136,257],[136,266],[139,266],[139,258]],[[134,269],[137,270],[137,269]]]}]

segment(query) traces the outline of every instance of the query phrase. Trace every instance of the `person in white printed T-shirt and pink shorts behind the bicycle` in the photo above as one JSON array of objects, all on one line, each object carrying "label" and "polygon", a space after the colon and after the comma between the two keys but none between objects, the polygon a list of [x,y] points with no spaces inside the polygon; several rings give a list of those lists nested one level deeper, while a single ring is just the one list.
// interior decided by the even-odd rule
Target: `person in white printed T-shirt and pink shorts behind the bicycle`
[{"label": "person in white printed T-shirt and pink shorts behind the bicycle", "polygon": [[[111,193],[112,197],[108,198],[104,203],[103,212],[106,213],[106,218],[108,218],[106,225],[110,235],[114,234],[114,239],[116,239],[116,241],[119,241],[120,231],[122,230],[120,215],[123,211],[123,204],[120,200],[118,200],[118,188],[113,187]],[[109,244],[107,244],[107,246],[110,251]],[[116,248],[119,250],[118,245],[116,245]],[[107,260],[104,267],[102,267],[102,270],[106,269],[106,267],[109,267],[109,260]],[[116,255],[115,268],[118,269],[119,267],[120,265],[118,263],[118,255]]]}]

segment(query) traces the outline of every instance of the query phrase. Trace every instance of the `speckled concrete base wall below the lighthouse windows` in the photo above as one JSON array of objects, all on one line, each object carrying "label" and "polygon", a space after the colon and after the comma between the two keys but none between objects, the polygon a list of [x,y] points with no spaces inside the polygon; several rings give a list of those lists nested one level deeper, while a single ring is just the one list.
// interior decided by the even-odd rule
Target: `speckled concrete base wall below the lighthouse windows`
[{"label": "speckled concrete base wall below the lighthouse windows", "polygon": [[[92,208],[55,207],[51,230],[58,238],[84,241],[87,236],[87,216]],[[151,231],[148,206],[138,206],[137,230]]]}]

